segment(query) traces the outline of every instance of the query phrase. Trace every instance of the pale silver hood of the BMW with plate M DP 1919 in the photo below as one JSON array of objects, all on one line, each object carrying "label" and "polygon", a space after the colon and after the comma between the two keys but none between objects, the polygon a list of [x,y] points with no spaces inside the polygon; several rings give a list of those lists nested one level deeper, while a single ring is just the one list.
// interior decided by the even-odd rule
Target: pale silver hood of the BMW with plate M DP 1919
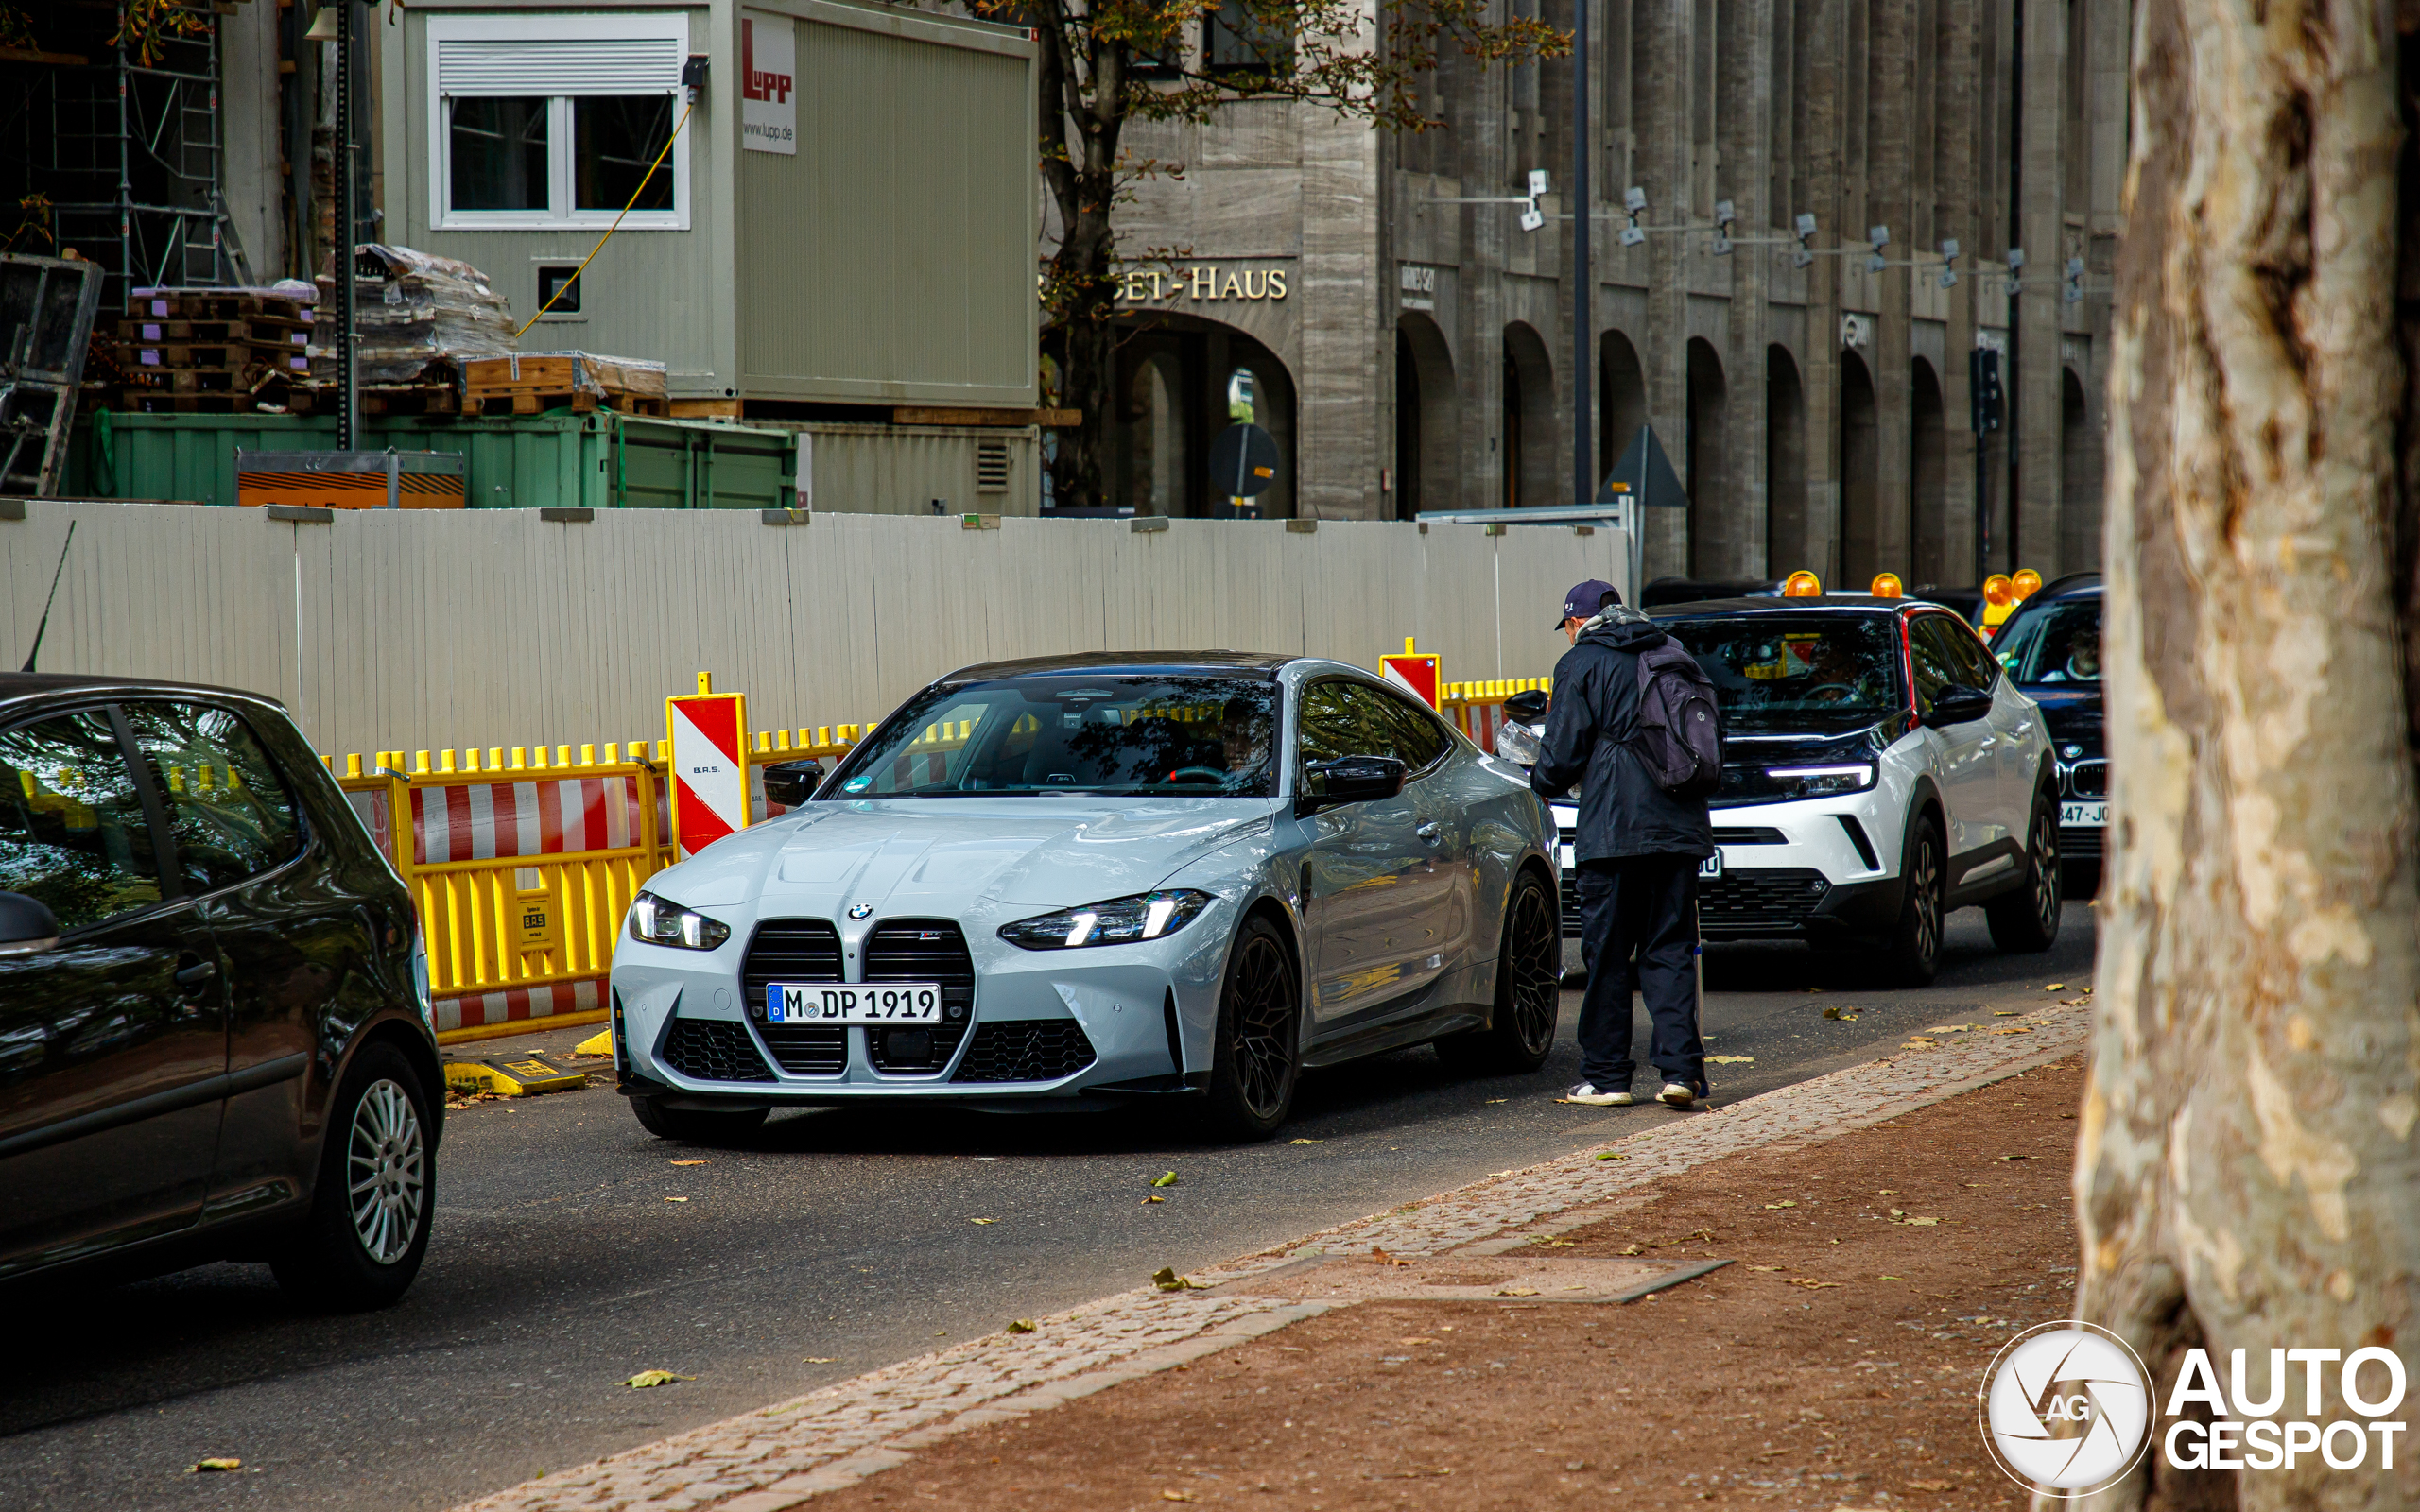
[{"label": "pale silver hood of the BMW with plate M DP 1919", "polygon": [[1212,849],[1266,830],[1268,798],[888,798],[808,803],[658,873],[687,907],[765,900],[837,917],[949,914],[975,902],[1067,907],[1147,893]]}]

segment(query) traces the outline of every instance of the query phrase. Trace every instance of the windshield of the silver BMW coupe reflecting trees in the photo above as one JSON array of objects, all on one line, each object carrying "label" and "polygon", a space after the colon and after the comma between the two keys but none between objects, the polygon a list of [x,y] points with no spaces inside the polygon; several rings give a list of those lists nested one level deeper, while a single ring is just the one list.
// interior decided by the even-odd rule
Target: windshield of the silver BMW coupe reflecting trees
[{"label": "windshield of the silver BMW coupe reflecting trees", "polygon": [[1036,675],[929,687],[828,798],[1275,791],[1278,687],[1244,677]]}]

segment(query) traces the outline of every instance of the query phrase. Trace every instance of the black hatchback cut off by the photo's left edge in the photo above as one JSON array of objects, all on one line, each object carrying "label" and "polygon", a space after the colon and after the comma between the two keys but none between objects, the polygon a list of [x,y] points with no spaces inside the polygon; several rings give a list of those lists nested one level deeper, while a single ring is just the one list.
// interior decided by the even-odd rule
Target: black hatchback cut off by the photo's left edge
[{"label": "black hatchback cut off by the photo's left edge", "polygon": [[438,1089],[411,898],[278,704],[0,675],[0,1282],[392,1302]]}]

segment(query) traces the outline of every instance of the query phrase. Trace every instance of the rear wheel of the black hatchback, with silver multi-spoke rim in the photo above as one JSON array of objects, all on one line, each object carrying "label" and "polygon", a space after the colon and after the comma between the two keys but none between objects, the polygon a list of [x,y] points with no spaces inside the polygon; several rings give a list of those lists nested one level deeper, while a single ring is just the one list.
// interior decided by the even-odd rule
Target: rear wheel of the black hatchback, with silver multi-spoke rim
[{"label": "rear wheel of the black hatchback, with silver multi-spoke rim", "polygon": [[269,1268],[290,1297],[368,1311],[411,1287],[436,1217],[436,1120],[419,1072],[392,1045],[363,1045],[319,1135],[310,1217]]}]

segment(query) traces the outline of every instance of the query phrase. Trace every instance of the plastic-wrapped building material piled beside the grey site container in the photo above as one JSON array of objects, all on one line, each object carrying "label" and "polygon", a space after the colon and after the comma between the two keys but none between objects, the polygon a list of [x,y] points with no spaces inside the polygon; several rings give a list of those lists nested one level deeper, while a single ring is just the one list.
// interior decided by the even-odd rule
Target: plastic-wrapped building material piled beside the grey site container
[{"label": "plastic-wrapped building material piled beside the grey site container", "polygon": [[[361,382],[453,382],[445,363],[511,356],[513,307],[486,273],[411,247],[363,244],[353,266],[353,358]],[[312,377],[334,382],[334,278],[319,278]]]}]

